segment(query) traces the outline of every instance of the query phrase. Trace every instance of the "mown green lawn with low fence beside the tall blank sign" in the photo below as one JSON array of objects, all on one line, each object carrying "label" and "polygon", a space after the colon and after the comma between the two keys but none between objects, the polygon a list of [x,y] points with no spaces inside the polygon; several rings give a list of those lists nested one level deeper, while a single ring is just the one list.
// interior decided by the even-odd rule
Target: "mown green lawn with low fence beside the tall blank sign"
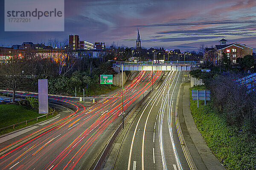
[{"label": "mown green lawn with low fence beside the tall blank sign", "polygon": [[[20,125],[15,125],[15,129],[13,129],[12,127],[5,129],[5,130],[1,130],[0,131],[0,135],[12,132],[14,130],[17,129],[21,129],[23,127],[27,127],[29,125],[33,125],[37,122],[42,122],[44,120],[50,119],[54,116],[56,116],[58,113],[54,112],[53,116],[49,115],[42,118],[39,118],[38,121],[34,120],[34,121],[30,121]],[[19,122],[23,122],[29,119],[33,119],[36,118],[38,116],[42,116],[42,114],[39,114],[37,111],[35,111],[34,109],[28,108],[26,106],[19,106],[19,105],[0,105],[0,128],[2,127],[6,127],[6,126],[10,126],[10,125],[14,125],[16,123]]]}]

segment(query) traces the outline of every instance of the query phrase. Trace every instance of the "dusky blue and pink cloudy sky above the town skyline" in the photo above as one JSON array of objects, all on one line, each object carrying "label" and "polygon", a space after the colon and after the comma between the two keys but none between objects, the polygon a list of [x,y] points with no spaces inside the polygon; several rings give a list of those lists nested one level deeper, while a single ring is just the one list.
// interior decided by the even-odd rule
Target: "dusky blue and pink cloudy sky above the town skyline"
[{"label": "dusky blue and pink cloudy sky above the town skyline", "polygon": [[0,13],[0,45],[7,46],[78,34],[107,47],[134,47],[139,28],[144,48],[198,51],[222,38],[256,48],[256,0],[65,0],[64,31],[53,32],[4,31],[3,0]]}]

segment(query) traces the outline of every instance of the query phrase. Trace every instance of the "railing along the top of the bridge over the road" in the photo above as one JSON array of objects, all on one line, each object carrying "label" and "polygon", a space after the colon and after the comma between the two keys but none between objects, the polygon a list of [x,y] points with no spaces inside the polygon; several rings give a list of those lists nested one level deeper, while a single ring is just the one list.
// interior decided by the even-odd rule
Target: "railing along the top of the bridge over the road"
[{"label": "railing along the top of the bridge over the road", "polygon": [[[122,62],[116,61],[113,67],[120,67],[122,65],[152,65],[152,62]],[[154,61],[153,65],[196,65],[195,61]]]}]

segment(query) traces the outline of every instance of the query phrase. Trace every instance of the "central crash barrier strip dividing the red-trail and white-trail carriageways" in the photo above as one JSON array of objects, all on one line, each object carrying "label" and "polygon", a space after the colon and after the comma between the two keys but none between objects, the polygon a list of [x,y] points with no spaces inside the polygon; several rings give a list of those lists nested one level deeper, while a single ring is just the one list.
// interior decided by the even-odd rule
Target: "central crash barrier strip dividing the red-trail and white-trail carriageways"
[{"label": "central crash barrier strip dividing the red-trail and white-trail carriageways", "polygon": [[[161,79],[163,78],[163,74]],[[161,80],[160,79],[160,80]],[[159,85],[160,80],[157,82],[157,84],[154,85],[154,88]],[[126,115],[126,117],[124,118],[124,125],[126,124],[126,122],[128,122],[128,120],[131,118],[132,114],[137,110],[137,108],[139,108],[139,106],[144,102],[145,98],[149,96],[149,94],[151,94],[151,90],[145,95],[143,96],[143,98],[140,100],[140,102],[137,103],[137,105],[134,106],[134,108],[130,111],[130,113],[128,113]],[[117,127],[116,131],[113,133],[113,135],[111,136],[111,139],[109,140],[107,146],[105,147],[105,149],[103,150],[102,155],[99,157],[99,160],[97,161],[95,167],[93,168],[93,170],[100,170],[103,162],[105,161],[106,156],[108,155],[109,150],[111,149],[112,144],[114,143],[114,141],[116,140],[116,137],[119,135],[119,133],[122,130],[122,123]]]}]

